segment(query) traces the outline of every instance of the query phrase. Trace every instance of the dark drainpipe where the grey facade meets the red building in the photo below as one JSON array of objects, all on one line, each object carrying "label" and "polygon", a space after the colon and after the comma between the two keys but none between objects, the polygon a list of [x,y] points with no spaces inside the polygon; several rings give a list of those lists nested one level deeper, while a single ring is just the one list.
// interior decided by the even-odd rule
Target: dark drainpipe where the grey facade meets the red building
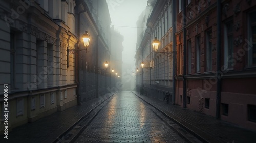
[{"label": "dark drainpipe where the grey facade meets the red building", "polygon": [[176,25],[175,25],[175,20],[176,20],[176,2],[173,1],[173,16],[172,16],[172,22],[173,22],[173,96],[172,96],[172,102],[173,105],[175,105],[175,57],[176,57]]}]

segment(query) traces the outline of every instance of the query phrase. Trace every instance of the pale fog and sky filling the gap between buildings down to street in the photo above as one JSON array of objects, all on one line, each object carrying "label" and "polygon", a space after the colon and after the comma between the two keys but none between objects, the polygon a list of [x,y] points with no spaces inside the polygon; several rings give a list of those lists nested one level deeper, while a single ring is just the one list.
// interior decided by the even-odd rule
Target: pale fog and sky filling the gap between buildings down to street
[{"label": "pale fog and sky filling the gap between buildings down to street", "polygon": [[[122,54],[123,90],[133,90],[135,77],[135,49],[137,40],[136,22],[147,6],[147,0],[107,0],[111,17],[111,26],[124,37]],[[141,28],[141,27],[138,27]]]}]

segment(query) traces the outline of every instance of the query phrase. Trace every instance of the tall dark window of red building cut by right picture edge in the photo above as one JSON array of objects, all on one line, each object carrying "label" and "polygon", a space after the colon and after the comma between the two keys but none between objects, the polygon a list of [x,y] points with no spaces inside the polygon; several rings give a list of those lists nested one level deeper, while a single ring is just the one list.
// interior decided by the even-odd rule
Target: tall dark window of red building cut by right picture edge
[{"label": "tall dark window of red building cut by right picture edge", "polygon": [[249,13],[248,40],[252,41],[248,44],[248,66],[256,66],[256,11]]}]

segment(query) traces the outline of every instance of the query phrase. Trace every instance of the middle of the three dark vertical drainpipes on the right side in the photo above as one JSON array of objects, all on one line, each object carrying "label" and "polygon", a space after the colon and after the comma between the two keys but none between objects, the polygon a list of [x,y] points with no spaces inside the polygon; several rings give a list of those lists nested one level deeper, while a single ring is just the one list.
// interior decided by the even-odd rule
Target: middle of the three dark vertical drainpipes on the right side
[{"label": "middle of the three dark vertical drainpipes on the right side", "polygon": [[186,3],[182,3],[182,15],[183,15],[183,108],[187,106],[187,98],[186,98],[186,72],[187,72],[187,31],[185,28],[186,25]]}]

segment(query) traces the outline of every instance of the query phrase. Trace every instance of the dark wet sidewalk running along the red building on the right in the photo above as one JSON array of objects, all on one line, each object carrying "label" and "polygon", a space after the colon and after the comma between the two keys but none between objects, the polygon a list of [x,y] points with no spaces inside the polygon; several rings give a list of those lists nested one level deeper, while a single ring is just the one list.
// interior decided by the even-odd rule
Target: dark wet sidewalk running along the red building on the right
[{"label": "dark wet sidewalk running along the red building on the right", "polygon": [[166,104],[166,101],[163,102],[150,96],[140,95],[136,91],[132,92],[164,113],[165,116],[175,121],[189,133],[197,136],[199,139],[201,138],[203,142],[256,142],[256,131],[237,127],[231,123],[217,120],[214,117],[194,110]]}]

